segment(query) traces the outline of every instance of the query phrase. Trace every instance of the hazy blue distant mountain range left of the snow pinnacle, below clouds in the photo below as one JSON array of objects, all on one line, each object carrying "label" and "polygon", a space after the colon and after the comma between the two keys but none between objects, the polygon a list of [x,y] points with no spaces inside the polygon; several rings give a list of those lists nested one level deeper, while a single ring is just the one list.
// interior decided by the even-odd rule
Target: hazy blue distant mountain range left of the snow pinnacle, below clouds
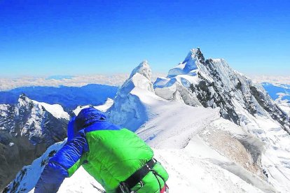
[{"label": "hazy blue distant mountain range left of the snow pinnacle, below clouds", "polygon": [[109,85],[90,84],[83,87],[19,87],[13,90],[0,92],[0,103],[18,103],[20,94],[29,99],[50,104],[60,104],[64,109],[73,110],[76,106],[99,106],[107,98],[116,96],[118,87]]}]

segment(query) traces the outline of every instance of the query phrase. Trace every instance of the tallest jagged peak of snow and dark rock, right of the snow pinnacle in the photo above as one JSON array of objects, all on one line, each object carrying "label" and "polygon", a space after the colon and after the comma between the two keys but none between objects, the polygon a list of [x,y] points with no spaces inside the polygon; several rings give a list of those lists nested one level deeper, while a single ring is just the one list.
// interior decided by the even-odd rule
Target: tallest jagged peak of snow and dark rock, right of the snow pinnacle
[{"label": "tallest jagged peak of snow and dark rock, right of the snow pinnacle", "polygon": [[[239,124],[246,110],[251,115],[270,115],[289,130],[289,117],[268,96],[261,85],[230,68],[224,59],[205,59],[199,48],[191,50],[168,76],[158,78],[155,92],[164,99],[174,99],[179,92],[184,103],[221,108],[221,115]],[[188,100],[188,98],[190,98]],[[194,102],[197,100],[198,102]],[[239,103],[241,108],[235,104]]]}]

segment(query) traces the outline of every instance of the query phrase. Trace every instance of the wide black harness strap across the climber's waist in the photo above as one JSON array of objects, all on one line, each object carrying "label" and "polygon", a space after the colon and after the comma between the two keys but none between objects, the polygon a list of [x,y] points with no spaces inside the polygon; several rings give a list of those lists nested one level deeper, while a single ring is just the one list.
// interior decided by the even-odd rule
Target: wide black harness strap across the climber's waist
[{"label": "wide black harness strap across the climber's waist", "polygon": [[117,192],[125,192],[126,189],[131,189],[137,183],[139,183],[149,171],[153,169],[153,166],[156,164],[156,161],[154,159],[151,159],[149,162],[147,162],[141,169],[135,171],[127,180],[120,183],[119,187],[117,188]]}]

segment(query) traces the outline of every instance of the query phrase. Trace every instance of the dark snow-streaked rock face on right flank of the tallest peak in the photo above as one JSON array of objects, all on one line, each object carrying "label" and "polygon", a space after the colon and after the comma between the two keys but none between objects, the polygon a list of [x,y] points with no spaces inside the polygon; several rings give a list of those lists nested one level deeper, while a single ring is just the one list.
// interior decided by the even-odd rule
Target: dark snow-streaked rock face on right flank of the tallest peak
[{"label": "dark snow-streaked rock face on right flank of the tallest peak", "polygon": [[[198,85],[191,85],[192,92],[205,107],[221,108],[223,118],[240,123],[239,113],[233,100],[242,104],[242,108],[251,115],[263,114],[263,110],[277,120],[289,134],[289,117],[277,106],[263,87],[254,85],[247,77],[237,73],[223,59],[207,59],[198,50],[198,61],[209,72],[207,75],[214,81],[209,81],[198,73],[201,79]],[[211,90],[211,91],[209,91]]]}]

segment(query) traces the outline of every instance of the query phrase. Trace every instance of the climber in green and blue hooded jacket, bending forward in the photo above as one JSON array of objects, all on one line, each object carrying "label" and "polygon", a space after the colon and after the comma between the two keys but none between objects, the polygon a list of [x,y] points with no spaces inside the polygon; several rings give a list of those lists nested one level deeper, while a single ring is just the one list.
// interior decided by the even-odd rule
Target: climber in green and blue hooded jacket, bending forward
[{"label": "climber in green and blue hooded jacket, bending forward", "polygon": [[80,166],[106,192],[167,192],[168,174],[149,145],[91,107],[71,119],[67,143],[49,159],[34,192],[57,192]]}]

